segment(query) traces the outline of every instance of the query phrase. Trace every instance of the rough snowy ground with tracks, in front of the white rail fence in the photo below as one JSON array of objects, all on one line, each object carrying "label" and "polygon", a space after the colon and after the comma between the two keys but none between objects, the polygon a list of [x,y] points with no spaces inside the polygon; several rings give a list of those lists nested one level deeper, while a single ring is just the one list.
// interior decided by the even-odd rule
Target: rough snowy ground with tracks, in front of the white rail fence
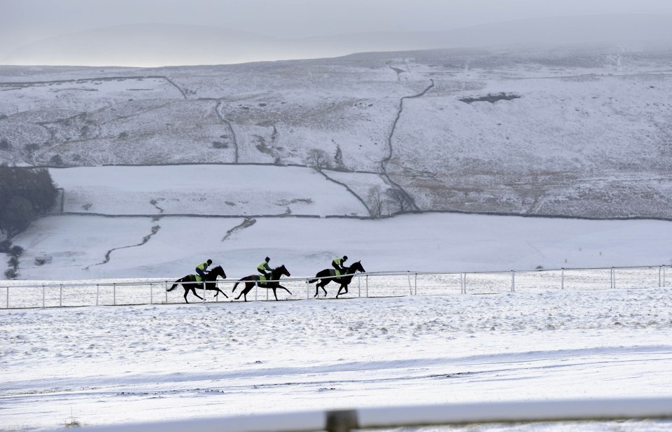
[{"label": "rough snowy ground with tracks, in front of the white rail fence", "polygon": [[[71,417],[95,425],[669,397],[669,289],[3,309],[0,429],[57,428]],[[597,423],[581,430],[669,426]],[[554,427],[513,430],[577,430]]]}]

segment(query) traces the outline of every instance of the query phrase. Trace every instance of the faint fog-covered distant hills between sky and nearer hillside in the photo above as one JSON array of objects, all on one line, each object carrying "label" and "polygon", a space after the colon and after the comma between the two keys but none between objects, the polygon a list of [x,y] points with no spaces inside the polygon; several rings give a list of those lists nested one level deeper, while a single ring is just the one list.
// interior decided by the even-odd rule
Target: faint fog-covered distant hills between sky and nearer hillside
[{"label": "faint fog-covered distant hills between sky and nearer hillside", "polygon": [[0,64],[157,67],[337,57],[374,51],[672,41],[672,15],[536,18],[431,32],[356,32],[302,38],[203,25],[125,24],[13,49]]}]

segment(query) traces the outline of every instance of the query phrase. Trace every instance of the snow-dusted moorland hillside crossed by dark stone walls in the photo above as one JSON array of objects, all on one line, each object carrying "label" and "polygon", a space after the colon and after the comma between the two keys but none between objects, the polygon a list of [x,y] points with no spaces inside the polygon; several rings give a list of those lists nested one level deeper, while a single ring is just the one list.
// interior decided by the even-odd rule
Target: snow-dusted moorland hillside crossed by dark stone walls
[{"label": "snow-dusted moorland hillside crossed by dark stone walls", "polygon": [[302,166],[373,216],[383,190],[388,213],[672,218],[667,46],[6,66],[0,95],[9,165]]}]

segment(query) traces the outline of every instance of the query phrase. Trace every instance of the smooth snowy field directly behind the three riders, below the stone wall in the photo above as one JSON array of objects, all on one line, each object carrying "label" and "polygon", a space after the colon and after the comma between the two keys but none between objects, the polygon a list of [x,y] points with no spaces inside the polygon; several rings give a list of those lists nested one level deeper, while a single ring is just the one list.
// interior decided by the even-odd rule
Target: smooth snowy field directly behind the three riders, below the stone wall
[{"label": "smooth snowy field directly behind the three riders, below the stone wall", "polygon": [[[228,277],[265,256],[313,276],[336,256],[367,272],[672,265],[672,223],[463,214],[343,218],[49,216],[13,239],[20,279],[177,279],[207,258]],[[40,264],[40,259],[50,262]],[[7,259],[3,260],[6,263]],[[0,284],[1,286],[1,284]]]}]

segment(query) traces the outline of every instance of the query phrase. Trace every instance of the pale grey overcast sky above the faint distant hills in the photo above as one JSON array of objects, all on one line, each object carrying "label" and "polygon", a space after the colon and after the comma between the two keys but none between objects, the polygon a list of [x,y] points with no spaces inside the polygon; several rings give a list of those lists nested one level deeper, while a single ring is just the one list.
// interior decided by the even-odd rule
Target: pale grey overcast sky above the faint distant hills
[{"label": "pale grey overcast sky above the faint distant hills", "polygon": [[207,25],[276,37],[443,31],[567,15],[672,14],[672,0],[0,0],[0,58],[114,25]]}]

